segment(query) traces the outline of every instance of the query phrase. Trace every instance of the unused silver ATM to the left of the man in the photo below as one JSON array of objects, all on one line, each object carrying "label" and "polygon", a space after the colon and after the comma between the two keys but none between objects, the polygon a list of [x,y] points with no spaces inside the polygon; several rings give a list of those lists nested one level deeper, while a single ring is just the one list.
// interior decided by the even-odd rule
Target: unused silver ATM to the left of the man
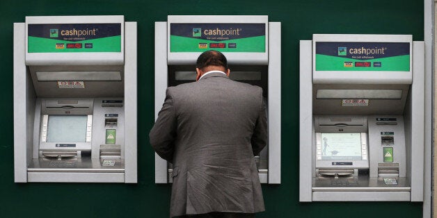
[{"label": "unused silver ATM to the left of the man", "polygon": [[136,183],[136,22],[14,24],[15,183]]}]

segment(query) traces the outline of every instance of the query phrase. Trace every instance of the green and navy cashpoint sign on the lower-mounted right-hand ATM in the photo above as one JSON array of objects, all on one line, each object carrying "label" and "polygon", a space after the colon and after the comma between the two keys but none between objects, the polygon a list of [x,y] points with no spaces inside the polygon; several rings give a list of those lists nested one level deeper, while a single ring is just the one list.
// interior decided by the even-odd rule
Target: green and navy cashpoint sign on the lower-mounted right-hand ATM
[{"label": "green and navy cashpoint sign on the lower-mounted right-hand ATM", "polygon": [[408,42],[316,42],[316,71],[410,72]]}]

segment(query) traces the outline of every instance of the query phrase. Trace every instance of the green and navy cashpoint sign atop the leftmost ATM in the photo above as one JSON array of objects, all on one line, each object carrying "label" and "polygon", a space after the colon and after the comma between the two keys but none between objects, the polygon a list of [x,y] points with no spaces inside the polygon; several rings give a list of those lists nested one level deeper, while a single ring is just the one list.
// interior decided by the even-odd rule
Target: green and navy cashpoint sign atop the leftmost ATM
[{"label": "green and navy cashpoint sign atop the leftmost ATM", "polygon": [[121,52],[121,24],[29,24],[27,52]]}]

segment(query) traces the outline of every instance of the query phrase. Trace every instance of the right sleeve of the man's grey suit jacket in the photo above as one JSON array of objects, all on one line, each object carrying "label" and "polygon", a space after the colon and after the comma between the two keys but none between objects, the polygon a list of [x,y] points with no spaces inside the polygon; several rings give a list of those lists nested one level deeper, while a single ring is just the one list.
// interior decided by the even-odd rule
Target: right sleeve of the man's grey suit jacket
[{"label": "right sleeve of the man's grey suit jacket", "polygon": [[255,123],[255,128],[253,129],[253,135],[251,138],[252,151],[254,156],[257,156],[260,153],[260,151],[264,149],[264,146],[267,145],[267,140],[268,140],[267,108],[266,108],[266,102],[262,97],[262,89],[260,92],[261,92],[260,93],[261,106],[260,106],[260,110],[258,111],[258,118]]}]

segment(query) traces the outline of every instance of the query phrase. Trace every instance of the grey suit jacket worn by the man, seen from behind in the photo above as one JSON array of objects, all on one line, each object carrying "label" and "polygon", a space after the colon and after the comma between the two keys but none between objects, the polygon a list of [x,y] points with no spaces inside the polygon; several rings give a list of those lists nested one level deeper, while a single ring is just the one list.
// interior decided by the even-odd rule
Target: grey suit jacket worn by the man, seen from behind
[{"label": "grey suit jacket worn by the man, seen from behind", "polygon": [[171,217],[264,210],[253,158],[267,144],[262,88],[214,72],[168,87],[149,136],[173,162]]}]

